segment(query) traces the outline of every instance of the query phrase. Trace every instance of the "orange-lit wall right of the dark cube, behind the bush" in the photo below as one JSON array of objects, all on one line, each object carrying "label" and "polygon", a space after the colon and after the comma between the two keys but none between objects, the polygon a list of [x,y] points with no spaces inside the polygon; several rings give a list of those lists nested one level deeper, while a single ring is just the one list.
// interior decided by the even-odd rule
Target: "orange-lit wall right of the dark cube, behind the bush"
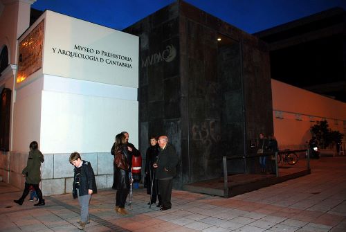
[{"label": "orange-lit wall right of the dark cube, behind the bush", "polygon": [[331,130],[346,134],[346,103],[273,79],[271,87],[274,134],[280,150],[306,148],[316,121],[327,120]]}]

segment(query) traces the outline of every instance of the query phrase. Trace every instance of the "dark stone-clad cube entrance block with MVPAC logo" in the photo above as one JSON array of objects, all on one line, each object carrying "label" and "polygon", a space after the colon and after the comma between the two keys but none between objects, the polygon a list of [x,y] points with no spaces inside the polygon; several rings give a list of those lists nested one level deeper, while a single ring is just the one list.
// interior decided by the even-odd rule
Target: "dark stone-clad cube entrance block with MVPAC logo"
[{"label": "dark stone-clad cube entrance block with MVPAC logo", "polygon": [[256,37],[183,1],[124,31],[140,37],[140,151],[152,134],[169,136],[181,159],[175,188],[220,177],[222,156],[250,154],[250,140],[273,132],[269,57]]}]

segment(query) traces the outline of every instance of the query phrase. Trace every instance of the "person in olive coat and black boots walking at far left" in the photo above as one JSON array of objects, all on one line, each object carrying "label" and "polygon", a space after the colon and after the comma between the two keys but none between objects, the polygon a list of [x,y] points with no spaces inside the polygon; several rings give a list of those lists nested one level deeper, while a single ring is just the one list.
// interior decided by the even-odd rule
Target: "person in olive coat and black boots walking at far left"
[{"label": "person in olive coat and black boots walking at far left", "polygon": [[39,189],[39,182],[41,181],[41,163],[44,162],[44,155],[39,151],[39,145],[36,141],[33,141],[29,145],[30,152],[26,167],[23,169],[21,174],[25,177],[25,186],[23,195],[21,198],[15,199],[14,202],[22,205],[24,199],[29,194],[30,186],[33,186],[37,193],[39,202],[34,206],[44,206],[44,199],[42,198],[42,191]]}]

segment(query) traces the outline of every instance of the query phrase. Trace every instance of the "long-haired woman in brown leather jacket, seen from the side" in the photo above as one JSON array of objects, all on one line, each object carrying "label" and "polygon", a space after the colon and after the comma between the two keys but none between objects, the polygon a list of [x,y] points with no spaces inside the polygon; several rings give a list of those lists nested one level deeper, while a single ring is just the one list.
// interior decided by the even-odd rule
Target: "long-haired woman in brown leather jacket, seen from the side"
[{"label": "long-haired woman in brown leather jacket, seen from the side", "polygon": [[124,134],[116,135],[114,166],[116,167],[116,213],[127,215],[125,211],[125,202],[129,194],[129,162],[127,157],[129,152],[126,145],[126,136]]}]

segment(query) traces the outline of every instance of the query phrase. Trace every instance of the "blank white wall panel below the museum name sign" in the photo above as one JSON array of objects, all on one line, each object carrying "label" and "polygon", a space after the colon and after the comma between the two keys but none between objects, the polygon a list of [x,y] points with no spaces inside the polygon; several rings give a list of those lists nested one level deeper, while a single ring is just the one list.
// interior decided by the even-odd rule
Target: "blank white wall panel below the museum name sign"
[{"label": "blank white wall panel below the museum name sign", "polygon": [[109,152],[122,130],[138,146],[137,101],[42,92],[43,153]]}]

